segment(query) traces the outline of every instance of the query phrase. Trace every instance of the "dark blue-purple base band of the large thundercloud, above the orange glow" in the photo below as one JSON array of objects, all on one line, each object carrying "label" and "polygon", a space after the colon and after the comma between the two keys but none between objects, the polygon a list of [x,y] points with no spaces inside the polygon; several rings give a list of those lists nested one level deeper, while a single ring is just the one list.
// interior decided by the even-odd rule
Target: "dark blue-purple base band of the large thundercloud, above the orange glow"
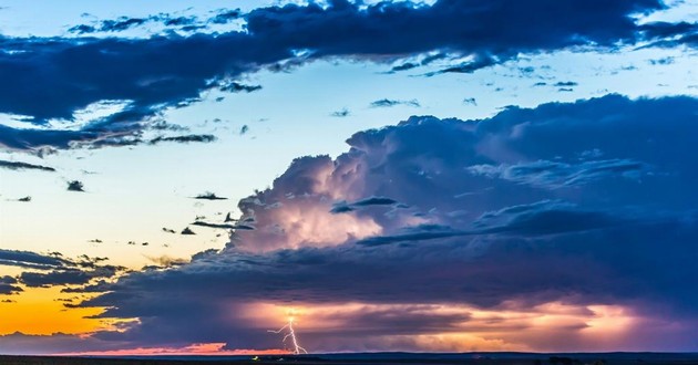
[{"label": "dark blue-purple base band of the large thundercloud, above the orange glow", "polygon": [[[627,230],[585,230],[578,234],[558,236],[556,240],[551,240],[550,238],[521,240],[515,237],[493,236],[481,241],[434,241],[428,248],[423,246],[403,246],[397,251],[389,248],[361,249],[351,246],[340,246],[326,249],[284,250],[264,255],[228,252],[228,254],[222,253],[208,260],[194,260],[191,265],[182,267],[175,271],[158,272],[157,274],[132,274],[121,283],[111,286],[111,289],[115,290],[114,294],[105,294],[102,299],[94,300],[91,303],[94,305],[109,305],[111,299],[116,296],[124,298],[123,295],[133,295],[133,300],[137,300],[151,289],[160,292],[157,294],[154,293],[153,299],[156,295],[174,290],[175,293],[172,293],[173,295],[186,294],[211,298],[214,293],[219,293],[222,301],[225,301],[226,295],[230,295],[230,298],[236,298],[240,302],[261,299],[320,303],[343,301],[388,303],[419,303],[425,301],[438,303],[465,300],[470,303],[485,306],[497,305],[503,300],[513,299],[524,293],[535,295],[536,291],[544,291],[543,288],[558,291],[553,296],[563,296],[565,295],[563,292],[566,291],[563,282],[572,285],[571,290],[582,290],[586,286],[587,290],[604,290],[606,291],[605,294],[608,294],[607,291],[613,291],[615,283],[599,281],[599,277],[579,272],[581,268],[578,265],[584,264],[597,268],[604,272],[620,273],[627,268],[609,265],[616,264],[613,262],[615,260],[614,257],[622,253],[617,251],[619,249],[618,244],[625,250],[636,246],[637,241],[606,247],[606,244],[609,244],[607,239],[616,234],[626,239],[649,232],[654,232],[653,234],[656,236],[658,233],[657,230],[667,228],[678,229],[671,234],[679,233],[677,237],[689,239],[696,234],[695,228],[689,227],[695,222],[695,218],[691,217],[690,222],[684,223],[675,221],[649,226],[635,225]],[[633,230],[637,230],[637,232],[633,232]],[[584,241],[591,238],[603,238],[605,241]],[[675,243],[677,246],[673,246],[673,248],[677,248],[686,242]],[[482,248],[484,251],[473,252],[470,246],[474,243],[485,244]],[[643,251],[650,251],[649,247],[638,246],[637,248]],[[589,250],[599,253],[602,255],[601,261],[585,262],[584,259],[574,259],[574,254],[588,252]],[[627,252],[627,254],[637,258],[649,254],[649,251],[639,253]],[[429,254],[427,257],[423,255],[427,252]],[[548,261],[551,258],[545,257],[546,254],[552,254],[560,262]],[[511,267],[499,267],[500,260],[504,257],[512,260]],[[645,262],[648,259],[645,258],[643,261]],[[677,257],[673,257],[673,259],[677,259]],[[687,260],[684,259],[685,262],[688,262]],[[575,267],[565,268],[564,262],[574,262]],[[562,267],[560,267],[561,264]],[[534,268],[538,265],[540,270],[535,270]],[[459,269],[459,267],[461,268]],[[414,270],[415,268],[420,268],[420,270]],[[526,274],[515,278],[515,273],[524,269]],[[454,270],[451,275],[438,274],[439,272],[444,273],[451,270]],[[546,275],[545,270],[564,273],[563,277],[568,278],[552,277],[544,279]],[[633,269],[634,272],[638,270],[641,269],[639,267]],[[485,271],[492,274],[493,279],[481,277]],[[328,277],[330,272],[331,275]],[[618,280],[636,280],[628,278],[627,274],[628,272],[623,273],[623,277],[618,278]],[[668,274],[664,275],[661,281],[669,280],[671,273]],[[434,275],[441,277],[443,281],[435,282],[430,279]],[[648,275],[650,273],[641,274],[643,278]],[[396,285],[396,278],[400,278],[400,285]],[[532,280],[533,278],[536,278],[536,280]],[[479,280],[483,280],[483,282]],[[502,280],[502,282],[497,282],[497,280]],[[201,285],[201,282],[207,283],[205,288]],[[350,284],[351,282],[361,282],[362,284],[352,285]],[[525,283],[525,285],[515,288],[515,285],[522,283]],[[668,281],[664,283],[666,284]],[[624,293],[623,289],[617,288],[618,292],[614,295],[634,296],[641,294],[643,290],[645,290],[643,288],[644,284],[639,280],[628,284],[630,286],[625,288],[625,290],[632,291],[632,294]],[[165,285],[165,288],[162,285]],[[666,290],[661,288],[655,289],[659,292],[668,292],[675,290],[676,285],[673,284],[671,289],[666,288]],[[222,291],[224,286],[228,288],[225,292]],[[479,290],[485,290],[485,292],[475,294]],[[688,294],[687,290],[684,289],[682,292]],[[647,294],[654,295],[655,293]],[[110,296],[112,298],[110,299]],[[593,295],[587,298],[587,300],[594,300]],[[130,302],[130,300],[125,302]],[[114,309],[106,316],[110,314],[119,314],[117,316],[137,315],[137,312],[131,312],[133,310],[140,311],[132,305],[119,305],[119,309]],[[163,315],[166,316],[167,313],[163,313]]]}]

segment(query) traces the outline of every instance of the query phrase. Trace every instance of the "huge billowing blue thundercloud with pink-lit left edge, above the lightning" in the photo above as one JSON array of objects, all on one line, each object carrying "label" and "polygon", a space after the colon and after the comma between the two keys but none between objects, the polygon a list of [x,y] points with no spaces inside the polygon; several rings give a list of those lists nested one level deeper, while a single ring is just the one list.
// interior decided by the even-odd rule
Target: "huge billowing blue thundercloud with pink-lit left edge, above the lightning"
[{"label": "huge billowing blue thundercloud with pink-lit left edge, above the lightning", "polygon": [[[348,153],[298,158],[270,188],[243,199],[240,219],[256,229],[235,232],[224,250],[124,275],[101,288],[109,293],[80,305],[109,307],[103,317],[142,320],[96,338],[220,341],[232,348],[278,342],[244,316],[232,317],[244,313],[234,307],[256,302],[393,305],[335,314],[384,335],[409,333],[388,325],[390,313],[414,314],[400,305],[439,303],[491,310],[516,303],[532,311],[551,302],[624,305],[648,319],[696,323],[698,166],[685,156],[696,153],[686,136],[698,134],[697,111],[690,97],[608,95],[510,107],[481,121],[412,117],[360,132],[348,139]],[[483,165],[525,168],[516,179],[470,169]],[[630,175],[641,179],[628,178],[636,169]],[[561,182],[579,174],[575,184]],[[370,198],[386,196],[403,208],[329,212],[332,201],[371,206],[390,202]],[[355,226],[371,229],[346,234]],[[374,325],[361,320],[370,313]],[[468,313],[460,315],[413,320],[417,327],[449,328],[469,323]],[[576,336],[582,327],[565,327],[557,337]],[[304,345],[328,351],[362,336],[305,331]],[[696,335],[688,325],[646,338],[692,348],[687,338]],[[633,336],[628,344],[637,343]]]}]

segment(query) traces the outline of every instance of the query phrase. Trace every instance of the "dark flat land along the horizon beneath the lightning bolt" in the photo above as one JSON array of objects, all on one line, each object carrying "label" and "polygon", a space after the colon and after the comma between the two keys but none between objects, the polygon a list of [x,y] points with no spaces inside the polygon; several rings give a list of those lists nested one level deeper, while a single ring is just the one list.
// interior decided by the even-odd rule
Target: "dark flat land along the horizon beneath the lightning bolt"
[{"label": "dark flat land along the horizon beneath the lightning bolt", "polygon": [[17,365],[164,365],[164,364],[421,364],[421,365],[698,365],[698,353],[466,353],[466,354],[318,354],[302,356],[133,356],[58,357],[0,356],[0,364]]}]

